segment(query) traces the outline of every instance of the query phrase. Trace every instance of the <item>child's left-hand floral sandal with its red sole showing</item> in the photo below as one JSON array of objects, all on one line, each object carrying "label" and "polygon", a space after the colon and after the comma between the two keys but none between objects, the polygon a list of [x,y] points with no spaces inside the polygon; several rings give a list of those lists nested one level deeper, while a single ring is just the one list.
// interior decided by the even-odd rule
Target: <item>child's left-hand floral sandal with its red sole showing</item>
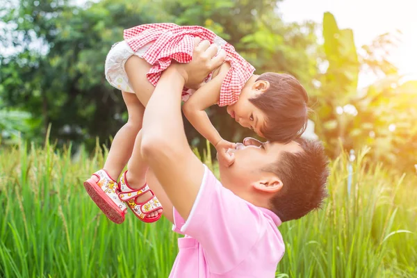
[{"label": "child's left-hand floral sandal with its red sole showing", "polygon": [[124,221],[127,206],[117,196],[119,193],[117,181],[112,179],[105,170],[99,170],[92,175],[98,177],[99,181],[95,182],[92,178],[84,181],[85,190],[108,219],[121,224]]}]

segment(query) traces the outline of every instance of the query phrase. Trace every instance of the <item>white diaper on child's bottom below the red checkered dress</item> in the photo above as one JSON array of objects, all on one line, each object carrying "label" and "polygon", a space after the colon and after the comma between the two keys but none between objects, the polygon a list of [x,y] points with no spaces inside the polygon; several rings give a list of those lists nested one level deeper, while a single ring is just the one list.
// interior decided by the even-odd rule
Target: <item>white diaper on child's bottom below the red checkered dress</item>
[{"label": "white diaper on child's bottom below the red checkered dress", "polygon": [[113,44],[111,50],[108,51],[106,64],[104,65],[104,74],[106,74],[108,83],[116,89],[134,94],[129,79],[127,78],[126,71],[124,70],[124,64],[132,55],[143,58],[143,54],[145,54],[151,44],[152,42],[145,44],[145,46],[141,47],[136,53],[133,53],[129,44],[124,40]]}]

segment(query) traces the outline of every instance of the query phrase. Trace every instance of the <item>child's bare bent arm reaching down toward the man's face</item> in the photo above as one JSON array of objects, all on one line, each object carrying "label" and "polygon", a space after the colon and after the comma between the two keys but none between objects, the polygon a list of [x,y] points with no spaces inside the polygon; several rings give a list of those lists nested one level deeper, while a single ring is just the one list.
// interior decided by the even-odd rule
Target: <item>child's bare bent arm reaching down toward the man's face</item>
[{"label": "child's bare bent arm reaching down toward the man's face", "polygon": [[211,124],[208,119],[206,108],[217,104],[220,98],[220,88],[222,81],[229,71],[229,63],[224,63],[216,76],[213,74],[213,79],[208,81],[205,85],[199,88],[195,93],[183,104],[183,112],[188,121],[197,129],[197,131],[204,136],[213,146],[218,145],[222,141],[222,137],[217,129]]}]

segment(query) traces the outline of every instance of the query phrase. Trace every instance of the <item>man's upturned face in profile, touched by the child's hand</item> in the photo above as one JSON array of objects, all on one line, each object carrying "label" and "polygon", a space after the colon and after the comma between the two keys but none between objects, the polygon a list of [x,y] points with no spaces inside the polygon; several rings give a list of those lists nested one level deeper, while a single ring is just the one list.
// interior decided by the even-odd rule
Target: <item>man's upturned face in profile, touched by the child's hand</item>
[{"label": "man's upturned face in profile, touched by the child's hand", "polygon": [[235,162],[230,167],[220,165],[222,185],[247,199],[245,195],[250,194],[254,183],[269,179],[270,173],[263,171],[266,167],[279,162],[282,152],[302,152],[302,147],[297,142],[263,143],[254,138],[245,138],[243,144],[236,144],[236,149],[229,152],[234,152]]}]

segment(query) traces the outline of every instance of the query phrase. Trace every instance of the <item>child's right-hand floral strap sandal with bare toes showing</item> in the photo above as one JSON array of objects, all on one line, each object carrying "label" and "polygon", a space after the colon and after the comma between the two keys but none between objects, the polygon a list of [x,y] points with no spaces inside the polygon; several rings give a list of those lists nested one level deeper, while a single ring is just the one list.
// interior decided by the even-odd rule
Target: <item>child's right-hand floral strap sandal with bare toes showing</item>
[{"label": "child's right-hand floral strap sandal with bare toes showing", "polygon": [[[129,206],[133,214],[136,215],[136,217],[142,220],[143,222],[153,223],[153,222],[158,221],[159,218],[161,218],[162,213],[158,213],[158,215],[152,218],[147,218],[147,215],[149,215],[149,213],[158,211],[158,209],[162,208],[161,203],[159,202],[158,198],[156,198],[152,190],[149,189],[149,186],[147,185],[147,183],[145,183],[145,185],[142,186],[142,188],[138,190],[131,188],[129,186],[129,183],[127,183],[126,172],[124,172],[124,174],[120,178],[120,183],[119,183],[120,193],[118,194],[119,198],[122,201],[126,202],[127,206]],[[147,193],[148,191],[152,193],[152,197],[148,199],[147,202],[142,202],[142,203],[136,202],[137,197]]]}]

